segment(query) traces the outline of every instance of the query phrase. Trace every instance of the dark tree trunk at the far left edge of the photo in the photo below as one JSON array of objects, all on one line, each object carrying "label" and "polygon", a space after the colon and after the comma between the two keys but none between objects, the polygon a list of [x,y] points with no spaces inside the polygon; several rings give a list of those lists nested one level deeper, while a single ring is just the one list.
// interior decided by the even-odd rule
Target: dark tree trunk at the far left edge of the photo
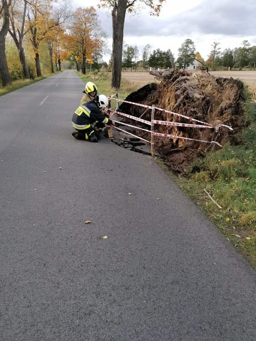
[{"label": "dark tree trunk at the far left edge of the photo", "polygon": [[11,77],[6,61],[6,55],[5,55],[5,38],[6,34],[9,30],[9,6],[10,2],[7,3],[7,1],[2,0],[2,17],[3,17],[3,23],[0,30],[0,74],[2,79],[2,85],[6,86],[8,84],[11,84]]}]

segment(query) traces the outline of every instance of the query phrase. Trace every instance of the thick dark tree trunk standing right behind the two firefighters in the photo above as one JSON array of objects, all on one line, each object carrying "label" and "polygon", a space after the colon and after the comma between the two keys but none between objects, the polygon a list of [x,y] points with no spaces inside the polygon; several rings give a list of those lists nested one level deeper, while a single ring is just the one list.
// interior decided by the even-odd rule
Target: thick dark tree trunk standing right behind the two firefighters
[{"label": "thick dark tree trunk standing right behind the two firefighters", "polygon": [[127,0],[119,0],[118,5],[114,5],[112,10],[112,29],[113,29],[113,65],[111,86],[118,90],[122,76],[122,50],[124,38],[124,23]]}]

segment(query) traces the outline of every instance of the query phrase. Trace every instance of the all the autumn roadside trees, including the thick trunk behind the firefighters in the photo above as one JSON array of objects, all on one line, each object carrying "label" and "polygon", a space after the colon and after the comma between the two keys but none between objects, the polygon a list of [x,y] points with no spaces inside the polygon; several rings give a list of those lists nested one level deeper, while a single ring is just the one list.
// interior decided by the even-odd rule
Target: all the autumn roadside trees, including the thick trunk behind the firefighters
[{"label": "all the autumn roadside trees, including the thick trunk behind the firefighters", "polygon": [[[70,0],[71,1],[71,0]],[[159,15],[161,4],[166,0],[100,0],[99,7],[111,10],[113,28],[112,50],[112,87],[120,87],[122,72],[122,49],[124,21],[127,12],[136,12],[140,5],[150,9],[150,15]],[[61,59],[69,58],[82,65],[82,72],[86,72],[86,62],[100,57],[105,34],[101,29],[96,11],[93,7],[79,8],[75,13],[71,11],[69,0],[0,0],[0,74],[2,85],[11,83],[11,76],[6,59],[5,41],[9,33],[18,49],[20,63],[24,77],[31,77],[26,65],[26,42],[33,48],[33,58],[37,76],[41,76],[40,49],[47,45],[49,58],[56,55],[58,69]],[[25,47],[25,48],[24,48]],[[56,63],[57,65],[57,63]]]}]

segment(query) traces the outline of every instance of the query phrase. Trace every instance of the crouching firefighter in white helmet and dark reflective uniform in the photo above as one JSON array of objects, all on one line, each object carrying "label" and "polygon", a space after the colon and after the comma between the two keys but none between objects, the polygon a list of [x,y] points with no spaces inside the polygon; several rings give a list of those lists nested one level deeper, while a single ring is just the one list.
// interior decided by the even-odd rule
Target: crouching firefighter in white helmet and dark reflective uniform
[{"label": "crouching firefighter in white helmet and dark reflective uniform", "polygon": [[95,129],[104,128],[105,124],[113,125],[111,119],[102,114],[109,101],[105,95],[99,95],[98,100],[91,100],[80,105],[72,117],[72,125],[76,131],[72,132],[74,138],[98,142]]}]

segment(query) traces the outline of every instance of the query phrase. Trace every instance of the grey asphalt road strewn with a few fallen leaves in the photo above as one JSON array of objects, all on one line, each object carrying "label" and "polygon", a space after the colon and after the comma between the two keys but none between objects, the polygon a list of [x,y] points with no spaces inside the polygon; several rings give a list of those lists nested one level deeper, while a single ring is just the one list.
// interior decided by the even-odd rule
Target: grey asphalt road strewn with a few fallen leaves
[{"label": "grey asphalt road strewn with a few fallen leaves", "polygon": [[0,97],[0,340],[255,341],[255,271],[150,156],[72,137],[83,89]]}]

